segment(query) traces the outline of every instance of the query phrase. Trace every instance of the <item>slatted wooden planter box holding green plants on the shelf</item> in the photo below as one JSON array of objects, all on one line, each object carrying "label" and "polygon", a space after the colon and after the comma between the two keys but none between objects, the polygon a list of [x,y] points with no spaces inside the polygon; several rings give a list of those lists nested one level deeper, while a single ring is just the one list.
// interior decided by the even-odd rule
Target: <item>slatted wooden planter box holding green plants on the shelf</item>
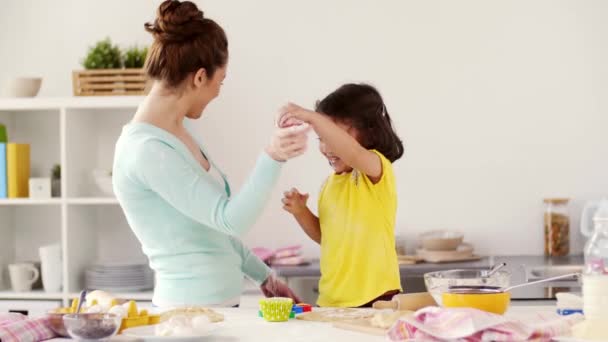
[{"label": "slatted wooden planter box holding green plants on the shelf", "polygon": [[145,95],[148,80],[144,69],[74,71],[75,96]]}]

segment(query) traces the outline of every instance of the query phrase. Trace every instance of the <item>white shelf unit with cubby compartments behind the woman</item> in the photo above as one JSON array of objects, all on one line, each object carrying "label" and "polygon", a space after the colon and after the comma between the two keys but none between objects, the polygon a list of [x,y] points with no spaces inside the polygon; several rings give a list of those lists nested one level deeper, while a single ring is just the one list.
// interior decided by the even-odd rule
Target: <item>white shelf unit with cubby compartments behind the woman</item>
[{"label": "white shelf unit with cubby compartments behind the woman", "polygon": [[[31,176],[50,177],[52,166],[61,166],[61,197],[0,199],[0,306],[14,300],[67,305],[84,287],[89,265],[147,262],[118,201],[103,195],[92,175],[94,169],[111,169],[116,139],[142,99],[0,99],[0,123],[9,141],[31,145]],[[62,245],[62,292],[12,292],[8,265],[39,261],[38,248],[51,243]],[[120,295],[152,298],[151,292]]]}]

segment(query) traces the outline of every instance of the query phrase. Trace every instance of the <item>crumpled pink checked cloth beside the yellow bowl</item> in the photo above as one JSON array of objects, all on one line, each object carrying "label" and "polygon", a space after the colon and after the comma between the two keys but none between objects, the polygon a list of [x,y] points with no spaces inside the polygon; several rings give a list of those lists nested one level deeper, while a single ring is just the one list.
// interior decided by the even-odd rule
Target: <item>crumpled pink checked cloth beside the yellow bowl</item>
[{"label": "crumpled pink checked cloth beside the yellow bowl", "polygon": [[391,341],[550,341],[567,336],[581,314],[527,313],[513,318],[469,308],[427,307],[397,321],[389,330]]}]

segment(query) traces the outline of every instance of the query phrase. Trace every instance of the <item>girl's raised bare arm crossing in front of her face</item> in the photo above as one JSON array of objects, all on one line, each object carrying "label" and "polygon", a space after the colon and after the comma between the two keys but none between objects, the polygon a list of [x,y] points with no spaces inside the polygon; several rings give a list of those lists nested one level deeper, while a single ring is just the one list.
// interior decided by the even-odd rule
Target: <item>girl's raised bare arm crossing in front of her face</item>
[{"label": "girl's raised bare arm crossing in front of her face", "polygon": [[365,173],[373,183],[380,181],[382,178],[380,157],[361,146],[353,136],[338,127],[330,118],[294,104],[285,106],[282,113],[310,124],[319,138],[346,164]]}]

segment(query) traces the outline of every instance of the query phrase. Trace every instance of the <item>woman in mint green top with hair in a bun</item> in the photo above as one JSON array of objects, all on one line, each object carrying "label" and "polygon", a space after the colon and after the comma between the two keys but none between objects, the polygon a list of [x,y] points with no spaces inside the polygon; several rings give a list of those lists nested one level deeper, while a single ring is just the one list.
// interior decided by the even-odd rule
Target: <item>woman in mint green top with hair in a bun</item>
[{"label": "woman in mint green top with hair in a bun", "polygon": [[307,131],[277,129],[248,181],[225,176],[184,127],[219,94],[228,64],[224,30],[191,2],[165,1],[153,23],[146,72],[153,85],[116,144],[113,181],[131,229],[156,272],[157,306],[235,306],[243,274],[267,296],[299,299],[237,237],[262,212],[282,162]]}]

